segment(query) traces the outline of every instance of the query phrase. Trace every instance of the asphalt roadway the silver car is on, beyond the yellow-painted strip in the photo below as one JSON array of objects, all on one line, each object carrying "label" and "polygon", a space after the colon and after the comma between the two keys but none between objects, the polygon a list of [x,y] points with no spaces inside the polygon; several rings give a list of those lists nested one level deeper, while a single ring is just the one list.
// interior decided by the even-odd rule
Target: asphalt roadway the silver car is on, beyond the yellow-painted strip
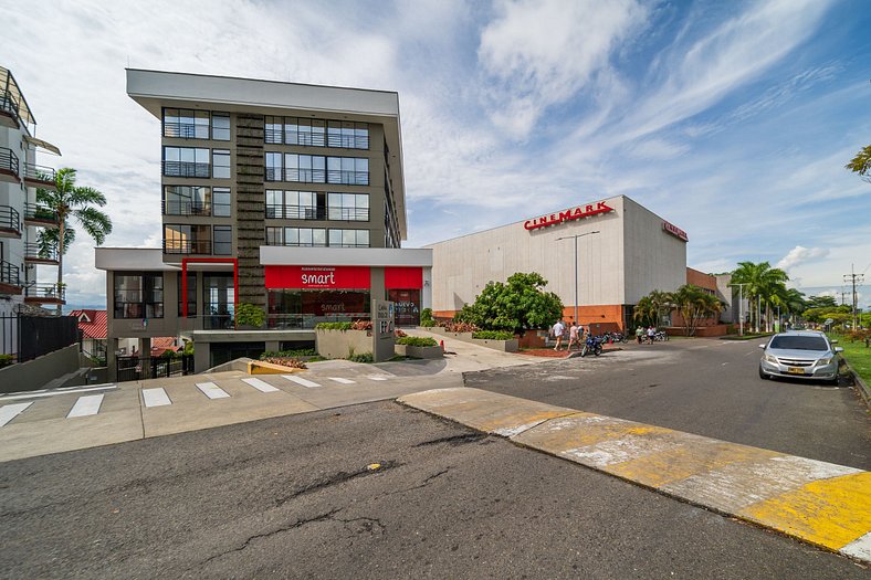
[{"label": "asphalt roadway the silver car is on, beyond the yellow-painted strip", "polygon": [[762,380],[758,341],[672,339],[466,375],[466,386],[871,471],[871,423],[846,383]]}]

